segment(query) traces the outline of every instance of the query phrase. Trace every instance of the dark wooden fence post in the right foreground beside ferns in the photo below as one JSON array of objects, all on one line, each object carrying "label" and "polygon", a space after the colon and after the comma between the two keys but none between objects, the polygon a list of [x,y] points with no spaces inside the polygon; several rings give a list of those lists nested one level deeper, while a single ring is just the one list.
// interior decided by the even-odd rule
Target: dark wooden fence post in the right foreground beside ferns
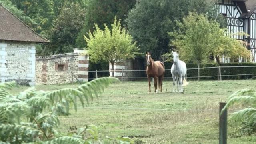
[{"label": "dark wooden fence post in the right foreground beside ferns", "polygon": [[[220,112],[222,108],[226,105],[225,102],[220,102]],[[220,115],[220,122],[219,122],[219,144],[227,144],[227,117],[228,112],[224,110],[222,115]]]}]

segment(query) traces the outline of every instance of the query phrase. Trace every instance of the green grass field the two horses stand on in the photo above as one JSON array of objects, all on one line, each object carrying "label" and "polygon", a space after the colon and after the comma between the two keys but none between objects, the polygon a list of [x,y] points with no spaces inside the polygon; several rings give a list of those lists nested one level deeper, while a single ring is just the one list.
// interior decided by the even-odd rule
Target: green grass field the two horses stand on
[{"label": "green grass field the two horses stand on", "polygon": [[[218,144],[218,107],[236,90],[255,88],[255,80],[189,81],[185,93],[172,93],[165,81],[162,94],[148,94],[148,82],[112,84],[85,108],[62,116],[60,132],[94,124],[100,138],[129,136],[146,144]],[[77,85],[37,86],[56,90]],[[153,89],[153,86],[151,86]],[[17,91],[24,90],[20,87]],[[238,109],[238,108],[234,108]],[[230,113],[230,112],[229,112]],[[256,136],[243,136],[240,125],[228,122],[229,144],[255,144]]]}]

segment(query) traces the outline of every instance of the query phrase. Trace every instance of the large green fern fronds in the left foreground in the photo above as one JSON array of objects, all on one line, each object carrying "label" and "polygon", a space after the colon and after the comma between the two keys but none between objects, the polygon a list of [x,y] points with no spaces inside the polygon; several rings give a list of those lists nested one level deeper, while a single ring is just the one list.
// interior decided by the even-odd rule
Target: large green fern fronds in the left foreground
[{"label": "large green fern fronds in the left foreground", "polygon": [[[64,88],[51,92],[37,91],[34,87],[12,95],[8,89],[15,82],[0,84],[0,142],[40,144],[92,144],[101,143],[95,126],[79,128],[77,135],[58,134],[58,116],[69,115],[70,104],[77,110],[78,102],[93,99],[117,78],[98,78],[78,88]],[[91,136],[88,136],[89,133]],[[108,142],[110,140],[106,140]],[[116,139],[129,142],[129,138]]]}]

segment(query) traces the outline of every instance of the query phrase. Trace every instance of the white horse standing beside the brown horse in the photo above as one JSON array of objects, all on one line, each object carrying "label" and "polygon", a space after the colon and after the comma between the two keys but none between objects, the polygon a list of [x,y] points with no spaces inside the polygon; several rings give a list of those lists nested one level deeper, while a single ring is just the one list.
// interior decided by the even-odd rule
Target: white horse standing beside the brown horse
[{"label": "white horse standing beside the brown horse", "polygon": [[[179,60],[179,54],[177,52],[172,51],[172,56],[173,56],[173,64],[171,68],[171,73],[172,73],[172,79],[173,79],[173,92],[174,86],[175,86],[175,80],[177,81],[177,91],[176,92],[184,92],[182,86],[188,85],[188,82],[185,79],[185,75],[187,73],[187,67],[186,63],[183,62],[182,60]],[[179,86],[180,85],[180,90]]]}]

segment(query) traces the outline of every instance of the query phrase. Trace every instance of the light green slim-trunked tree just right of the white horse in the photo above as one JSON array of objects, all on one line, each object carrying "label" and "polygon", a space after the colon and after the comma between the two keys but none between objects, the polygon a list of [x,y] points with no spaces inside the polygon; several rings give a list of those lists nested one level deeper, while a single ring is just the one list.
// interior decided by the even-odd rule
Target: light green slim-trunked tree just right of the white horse
[{"label": "light green slim-trunked tree just right of the white horse", "polygon": [[198,65],[198,80],[200,79],[200,64],[209,60],[211,50],[216,46],[215,33],[220,29],[216,21],[208,20],[203,14],[190,13],[182,22],[177,22],[179,30],[170,32],[175,40],[171,42],[178,48],[183,60],[192,60]]}]

